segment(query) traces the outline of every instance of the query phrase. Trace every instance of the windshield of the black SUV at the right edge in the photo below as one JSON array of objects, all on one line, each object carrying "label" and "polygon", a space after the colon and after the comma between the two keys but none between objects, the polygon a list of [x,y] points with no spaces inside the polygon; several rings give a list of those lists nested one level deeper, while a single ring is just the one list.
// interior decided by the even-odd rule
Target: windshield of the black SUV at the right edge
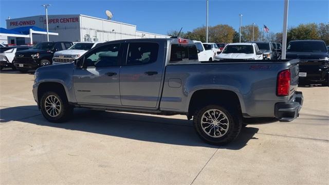
[{"label": "windshield of the black SUV at the right edge", "polygon": [[323,42],[298,41],[290,42],[287,47],[290,52],[327,52]]}]

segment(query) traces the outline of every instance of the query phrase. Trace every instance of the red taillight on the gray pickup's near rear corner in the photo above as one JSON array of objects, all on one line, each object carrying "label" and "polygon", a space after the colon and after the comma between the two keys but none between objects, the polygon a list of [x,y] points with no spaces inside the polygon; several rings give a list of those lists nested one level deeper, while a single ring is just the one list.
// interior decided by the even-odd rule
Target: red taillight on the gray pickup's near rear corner
[{"label": "red taillight on the gray pickup's near rear corner", "polygon": [[283,70],[279,72],[278,76],[278,96],[288,96],[290,90],[290,69]]}]

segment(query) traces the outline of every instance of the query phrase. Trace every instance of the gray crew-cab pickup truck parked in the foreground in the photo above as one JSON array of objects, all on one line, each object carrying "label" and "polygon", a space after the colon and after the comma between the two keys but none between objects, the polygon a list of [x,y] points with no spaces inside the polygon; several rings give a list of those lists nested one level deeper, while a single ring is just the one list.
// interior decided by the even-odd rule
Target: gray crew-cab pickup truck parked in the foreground
[{"label": "gray crew-cab pickup truck parked in the foreground", "polygon": [[298,60],[199,62],[197,53],[186,39],[106,42],[74,63],[38,68],[33,96],[51,122],[74,107],[186,115],[216,145],[239,135],[242,118],[299,116]]}]

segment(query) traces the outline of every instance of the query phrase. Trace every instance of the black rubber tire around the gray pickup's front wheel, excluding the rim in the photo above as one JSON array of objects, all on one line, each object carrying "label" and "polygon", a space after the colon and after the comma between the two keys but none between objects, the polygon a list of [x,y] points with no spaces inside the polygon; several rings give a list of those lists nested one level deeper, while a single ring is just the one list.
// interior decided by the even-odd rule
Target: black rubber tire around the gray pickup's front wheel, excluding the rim
[{"label": "black rubber tire around the gray pickup's front wheel, excluding the rim", "polygon": [[[44,105],[45,105],[45,100],[49,95],[56,96],[61,103],[61,112],[57,117],[51,117],[46,113],[46,109],[45,109]],[[71,112],[72,112],[72,108],[66,102],[66,100],[62,96],[60,96],[58,93],[53,92],[53,91],[48,91],[42,95],[42,97],[40,99],[40,109],[41,109],[42,115],[48,121],[55,122],[55,123],[67,121],[67,119],[69,118],[69,116],[71,115]]]}]

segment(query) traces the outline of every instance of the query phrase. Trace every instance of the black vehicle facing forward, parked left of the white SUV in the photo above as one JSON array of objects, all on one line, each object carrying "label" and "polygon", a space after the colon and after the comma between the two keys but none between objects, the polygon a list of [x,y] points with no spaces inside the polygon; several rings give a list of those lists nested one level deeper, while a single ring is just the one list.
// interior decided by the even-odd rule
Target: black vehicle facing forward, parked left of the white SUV
[{"label": "black vehicle facing forward, parked left of the white SUV", "polygon": [[52,63],[53,53],[68,49],[72,42],[42,42],[32,48],[15,53],[14,66],[21,72]]}]

